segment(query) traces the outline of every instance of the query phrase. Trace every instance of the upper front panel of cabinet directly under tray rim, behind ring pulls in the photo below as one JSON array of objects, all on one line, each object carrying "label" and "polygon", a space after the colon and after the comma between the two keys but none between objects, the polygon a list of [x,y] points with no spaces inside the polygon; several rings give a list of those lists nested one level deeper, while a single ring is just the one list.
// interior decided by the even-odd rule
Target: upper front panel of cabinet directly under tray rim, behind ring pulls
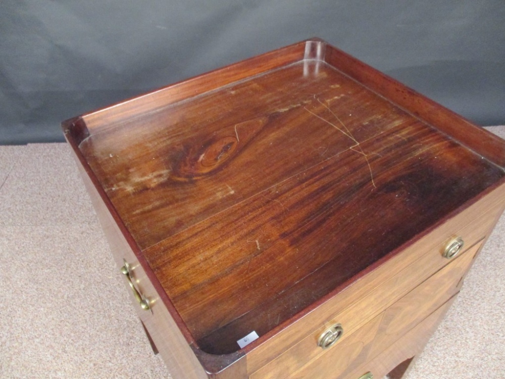
[{"label": "upper front panel of cabinet directly under tray rim, behind ring pulls", "polygon": [[[352,331],[449,263],[448,259],[442,257],[442,253],[453,237],[462,236],[465,241],[464,250],[467,250],[490,232],[502,210],[501,193],[490,193],[322,303],[314,311],[280,330],[274,338],[248,353],[247,371],[251,373],[251,378],[279,378],[283,377],[281,374],[285,376],[294,372],[321,353],[321,348],[317,347],[317,339],[335,323],[347,325],[341,338],[342,341],[345,340]],[[297,346],[299,344],[303,345]],[[288,366],[287,363],[292,362],[290,354],[294,347],[305,351],[306,359],[299,360],[295,366]],[[293,354],[298,353],[293,350]],[[285,370],[289,372],[286,373]]]}]

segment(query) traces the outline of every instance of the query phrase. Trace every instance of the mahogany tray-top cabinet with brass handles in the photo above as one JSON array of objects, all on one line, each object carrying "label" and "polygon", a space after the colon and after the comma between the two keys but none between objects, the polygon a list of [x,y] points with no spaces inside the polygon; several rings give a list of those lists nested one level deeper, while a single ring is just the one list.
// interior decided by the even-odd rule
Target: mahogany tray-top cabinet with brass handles
[{"label": "mahogany tray-top cabinet with brass handles", "polygon": [[128,256],[153,301],[149,335],[180,366],[174,336],[194,377],[316,359],[304,344],[331,322],[346,320],[345,343],[387,315],[504,206],[502,140],[318,39],[64,131],[118,265]]}]

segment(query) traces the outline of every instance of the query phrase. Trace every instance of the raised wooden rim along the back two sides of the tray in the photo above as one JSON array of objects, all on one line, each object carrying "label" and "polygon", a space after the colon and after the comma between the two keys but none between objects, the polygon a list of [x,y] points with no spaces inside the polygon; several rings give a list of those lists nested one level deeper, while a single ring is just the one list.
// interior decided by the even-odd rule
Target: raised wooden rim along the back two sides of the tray
[{"label": "raised wooden rim along the back two sides of the tray", "polygon": [[[115,123],[134,117],[140,112],[166,107],[301,60],[326,62],[369,90],[441,132],[451,135],[461,144],[505,169],[505,143],[499,137],[317,37],[84,114],[81,116],[84,121],[83,126],[80,126],[82,130],[80,132],[75,130],[74,133],[79,135],[78,139],[82,141],[93,132],[106,130]],[[484,146],[486,149],[483,148]]]}]

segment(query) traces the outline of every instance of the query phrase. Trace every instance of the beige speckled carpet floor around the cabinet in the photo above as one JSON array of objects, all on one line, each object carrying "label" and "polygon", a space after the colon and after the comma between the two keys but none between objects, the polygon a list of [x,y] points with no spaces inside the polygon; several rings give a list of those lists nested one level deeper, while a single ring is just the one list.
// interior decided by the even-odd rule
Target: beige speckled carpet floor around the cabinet
[{"label": "beige speckled carpet floor around the cabinet", "polygon": [[[505,137],[505,126],[490,127]],[[70,150],[0,147],[0,378],[169,378]],[[505,218],[409,379],[505,377]]]}]

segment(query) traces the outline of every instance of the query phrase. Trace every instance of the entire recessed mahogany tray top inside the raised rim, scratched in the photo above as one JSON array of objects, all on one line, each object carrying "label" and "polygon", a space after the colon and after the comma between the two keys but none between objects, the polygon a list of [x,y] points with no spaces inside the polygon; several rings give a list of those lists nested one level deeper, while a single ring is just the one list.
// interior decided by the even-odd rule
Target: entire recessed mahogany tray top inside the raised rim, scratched
[{"label": "entire recessed mahogany tray top inside the raised rim, scratched", "polygon": [[265,334],[503,177],[319,62],[142,115],[80,149],[214,354],[237,350],[242,330],[205,338],[265,299],[274,308],[245,334]]}]

